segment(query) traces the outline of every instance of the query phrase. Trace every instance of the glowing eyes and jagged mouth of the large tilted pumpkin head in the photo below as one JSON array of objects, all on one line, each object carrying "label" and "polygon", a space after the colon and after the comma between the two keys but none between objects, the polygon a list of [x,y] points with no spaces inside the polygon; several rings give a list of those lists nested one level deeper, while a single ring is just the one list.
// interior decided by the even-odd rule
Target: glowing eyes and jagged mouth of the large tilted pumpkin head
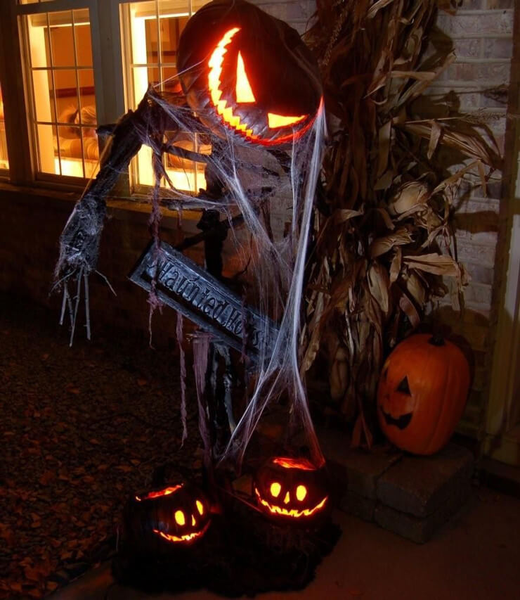
[{"label": "glowing eyes and jagged mouth of the large tilted pumpkin head", "polygon": [[[223,122],[229,125],[235,131],[245,136],[249,141],[259,143],[262,146],[275,146],[280,143],[287,143],[294,141],[303,136],[308,129],[311,128],[315,119],[311,119],[305,127],[299,129],[298,132],[292,132],[285,136],[280,136],[273,140],[264,140],[253,134],[253,130],[247,127],[247,123],[242,123],[240,117],[233,113],[233,107],[228,106],[226,100],[222,98],[223,90],[221,89],[221,75],[222,75],[222,63],[224,55],[228,51],[228,46],[231,40],[240,31],[240,27],[233,27],[223,34],[222,39],[212,52],[208,61],[209,72],[208,72],[208,89],[209,96],[212,99],[212,103],[216,108],[216,112],[222,117]],[[256,101],[254,97],[247,73],[245,71],[245,64],[240,52],[238,53],[237,59],[237,79],[235,87],[237,102],[253,103]],[[323,110],[323,97],[320,101],[320,106],[316,114]],[[301,115],[299,117],[277,115],[275,113],[268,113],[268,125],[271,129],[278,129],[281,127],[289,127],[290,125],[296,125],[297,123],[304,120],[308,115]]]}]

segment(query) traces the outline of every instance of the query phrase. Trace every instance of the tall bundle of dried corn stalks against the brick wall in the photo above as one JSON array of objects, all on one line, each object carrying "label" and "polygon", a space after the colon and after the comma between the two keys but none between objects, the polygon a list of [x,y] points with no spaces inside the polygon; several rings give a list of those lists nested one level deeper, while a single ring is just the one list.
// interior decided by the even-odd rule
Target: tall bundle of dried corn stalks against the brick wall
[{"label": "tall bundle of dried corn stalks against the brick wall", "polygon": [[[473,120],[424,117],[418,99],[453,62],[429,44],[435,0],[318,0],[308,43],[318,54],[331,118],[330,146],[309,257],[302,370],[327,359],[332,402],[372,442],[385,353],[416,328],[427,303],[467,274],[450,217],[457,184],[485,186],[500,157]],[[433,46],[433,47],[432,47]],[[450,148],[463,164],[438,158]],[[486,165],[486,166],[485,166]],[[474,180],[474,177],[473,177]]]}]

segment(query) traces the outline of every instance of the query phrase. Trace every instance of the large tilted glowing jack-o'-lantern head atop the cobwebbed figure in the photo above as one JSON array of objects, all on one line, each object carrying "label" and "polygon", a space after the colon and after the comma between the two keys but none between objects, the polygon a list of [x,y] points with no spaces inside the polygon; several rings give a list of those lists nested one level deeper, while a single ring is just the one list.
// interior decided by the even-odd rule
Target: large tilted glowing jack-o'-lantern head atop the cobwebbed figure
[{"label": "large tilted glowing jack-o'-lantern head atop the cobwebbed figure", "polygon": [[322,108],[318,65],[297,31],[243,0],[215,0],[193,15],[177,67],[190,107],[221,136],[284,146]]}]

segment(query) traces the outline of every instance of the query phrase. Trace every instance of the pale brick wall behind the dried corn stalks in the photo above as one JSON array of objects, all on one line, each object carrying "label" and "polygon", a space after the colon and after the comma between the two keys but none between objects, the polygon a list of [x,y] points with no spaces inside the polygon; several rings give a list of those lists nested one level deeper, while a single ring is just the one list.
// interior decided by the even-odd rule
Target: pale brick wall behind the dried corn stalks
[{"label": "pale brick wall behind the dried corn stalks", "polygon": [[[304,32],[315,9],[314,0],[252,0],[265,11]],[[457,60],[431,85],[436,96],[456,94],[458,110],[486,118],[503,151],[509,71],[513,50],[514,0],[462,0],[456,15],[440,12],[437,25],[452,41]],[[490,93],[490,89],[494,89]],[[441,302],[439,314],[472,345],[475,376],[462,430],[476,434],[483,419],[490,369],[493,323],[493,283],[500,209],[500,173],[488,186],[461,198],[457,209],[457,250],[472,282],[464,293],[465,312],[452,312]]]}]

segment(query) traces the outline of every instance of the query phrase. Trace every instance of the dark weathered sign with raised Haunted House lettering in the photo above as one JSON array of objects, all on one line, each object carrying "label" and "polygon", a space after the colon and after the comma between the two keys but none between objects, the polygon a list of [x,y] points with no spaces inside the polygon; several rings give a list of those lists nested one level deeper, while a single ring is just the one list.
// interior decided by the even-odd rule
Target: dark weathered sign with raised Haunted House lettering
[{"label": "dark weathered sign with raised Haunted House lettering", "polygon": [[278,326],[168,243],[161,242],[158,251],[150,243],[129,278],[148,291],[155,279],[160,300],[212,333],[215,341],[239,352],[245,347],[255,362],[263,350],[271,355]]}]

